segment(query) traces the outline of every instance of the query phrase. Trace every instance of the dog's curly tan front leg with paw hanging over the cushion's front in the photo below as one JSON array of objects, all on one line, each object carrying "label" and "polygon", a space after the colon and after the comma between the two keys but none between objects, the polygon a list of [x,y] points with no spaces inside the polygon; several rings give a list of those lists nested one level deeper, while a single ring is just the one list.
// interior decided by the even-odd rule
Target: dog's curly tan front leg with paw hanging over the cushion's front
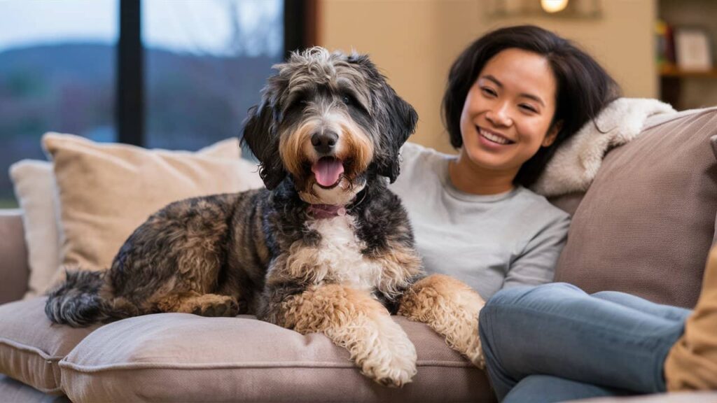
[{"label": "dog's curly tan front leg with paw hanging over the cushion's front", "polygon": [[330,284],[314,286],[281,304],[281,326],[321,332],[348,349],[371,379],[401,387],[416,374],[416,349],[381,303],[367,293]]}]

